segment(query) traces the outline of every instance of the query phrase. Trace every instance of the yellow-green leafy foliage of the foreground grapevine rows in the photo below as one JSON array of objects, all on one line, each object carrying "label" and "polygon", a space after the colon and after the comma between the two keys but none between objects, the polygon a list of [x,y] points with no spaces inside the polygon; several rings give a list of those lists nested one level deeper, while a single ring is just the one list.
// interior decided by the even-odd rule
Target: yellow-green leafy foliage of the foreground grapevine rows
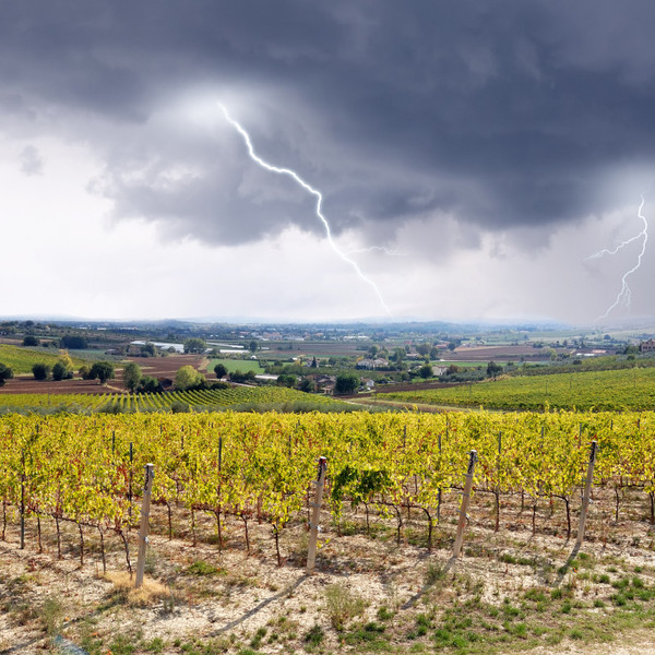
[{"label": "yellow-green leafy foliage of the foreground grapevine rows", "polygon": [[[445,495],[461,486],[471,450],[475,488],[501,498],[521,495],[533,513],[559,499],[571,536],[575,491],[591,439],[598,442],[595,484],[643,493],[655,522],[655,415],[644,414],[311,414],[194,416],[7,416],[0,424],[3,511],[127,529],[138,508],[134,476],[157,472],[153,497],[215,516],[221,539],[227,515],[265,517],[277,535],[303,511],[320,455],[330,463],[329,509],[338,523],[344,503],[365,504],[397,521],[413,507],[426,516],[426,546]],[[526,499],[529,499],[526,501]],[[534,527],[534,526],[533,526]],[[169,529],[171,527],[169,526]],[[279,558],[279,552],[277,553]]]}]

